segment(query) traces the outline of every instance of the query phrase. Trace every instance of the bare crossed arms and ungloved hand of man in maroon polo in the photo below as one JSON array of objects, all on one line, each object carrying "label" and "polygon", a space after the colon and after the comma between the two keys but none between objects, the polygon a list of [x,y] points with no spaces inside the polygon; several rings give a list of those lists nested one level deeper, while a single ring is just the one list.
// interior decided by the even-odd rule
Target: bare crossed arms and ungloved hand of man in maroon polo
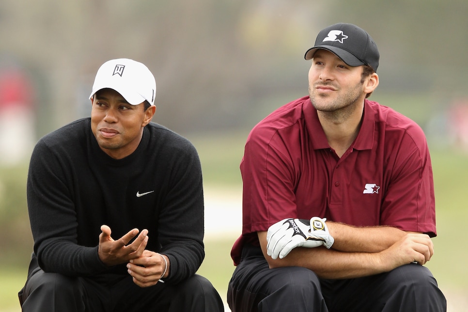
[{"label": "bare crossed arms and ungloved hand of man in maroon polo", "polygon": [[335,239],[331,249],[299,247],[275,260],[266,253],[266,231],[258,232],[270,268],[302,266],[320,278],[347,279],[388,272],[412,262],[424,265],[434,254],[432,240],[426,234],[389,226],[359,228],[334,222],[327,225]]}]

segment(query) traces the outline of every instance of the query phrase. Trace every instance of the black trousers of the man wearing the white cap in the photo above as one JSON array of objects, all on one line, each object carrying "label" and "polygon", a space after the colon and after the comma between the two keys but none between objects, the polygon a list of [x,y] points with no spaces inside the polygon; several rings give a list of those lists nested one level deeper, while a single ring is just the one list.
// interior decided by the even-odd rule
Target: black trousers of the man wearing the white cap
[{"label": "black trousers of the man wearing the white cap", "polygon": [[46,273],[31,263],[28,280],[18,296],[23,312],[224,311],[218,292],[200,275],[177,285],[157,283],[141,288],[129,275],[100,280],[72,278]]}]

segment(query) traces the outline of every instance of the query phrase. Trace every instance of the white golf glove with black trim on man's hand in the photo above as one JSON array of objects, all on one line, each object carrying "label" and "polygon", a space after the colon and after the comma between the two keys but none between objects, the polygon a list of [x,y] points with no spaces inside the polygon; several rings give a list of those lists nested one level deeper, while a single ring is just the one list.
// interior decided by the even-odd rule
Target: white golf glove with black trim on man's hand
[{"label": "white golf glove with black trim on man's hand", "polygon": [[[296,247],[319,247],[328,249],[335,242],[325,224],[326,218],[283,219],[268,228],[266,254],[272,259],[286,257]],[[311,227],[312,225],[312,227]]]}]

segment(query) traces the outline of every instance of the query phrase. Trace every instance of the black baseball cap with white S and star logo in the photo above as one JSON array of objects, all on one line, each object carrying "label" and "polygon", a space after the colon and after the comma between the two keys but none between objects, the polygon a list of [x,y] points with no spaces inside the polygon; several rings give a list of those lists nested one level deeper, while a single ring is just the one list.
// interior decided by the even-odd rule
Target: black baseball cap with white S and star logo
[{"label": "black baseball cap with white S and star logo", "polygon": [[379,66],[379,51],[372,37],[353,24],[339,23],[320,31],[314,47],[304,58],[311,60],[317,49],[333,52],[349,66],[370,65],[374,71]]}]

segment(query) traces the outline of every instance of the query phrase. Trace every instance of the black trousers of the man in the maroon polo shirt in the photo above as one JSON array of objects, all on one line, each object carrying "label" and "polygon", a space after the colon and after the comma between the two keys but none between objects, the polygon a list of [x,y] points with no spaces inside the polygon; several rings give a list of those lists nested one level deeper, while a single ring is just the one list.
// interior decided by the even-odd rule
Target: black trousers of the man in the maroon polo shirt
[{"label": "black trousers of the man in the maroon polo shirt", "polygon": [[260,247],[247,246],[228,287],[233,312],[445,312],[447,302],[425,266],[324,280],[303,267],[269,269]]}]

